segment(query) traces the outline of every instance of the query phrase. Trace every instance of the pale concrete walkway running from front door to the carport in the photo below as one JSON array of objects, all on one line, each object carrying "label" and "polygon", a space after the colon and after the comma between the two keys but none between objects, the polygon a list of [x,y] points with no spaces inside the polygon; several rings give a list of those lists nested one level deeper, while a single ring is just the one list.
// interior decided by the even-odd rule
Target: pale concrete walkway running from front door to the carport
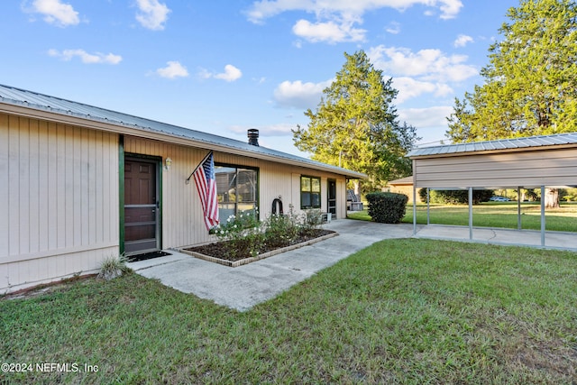
[{"label": "pale concrete walkway running from front door to the carport", "polygon": [[[339,236],[290,252],[255,261],[237,268],[199,260],[188,254],[168,251],[172,255],[148,261],[129,263],[138,274],[158,279],[164,285],[218,305],[245,311],[275,298],[296,283],[306,280],[353,252],[383,239],[410,238],[413,225],[384,225],[348,219],[335,220],[323,226]],[[539,246],[539,232],[495,229],[473,229],[476,243]],[[471,242],[469,227],[418,225],[417,238],[450,239]],[[577,234],[547,233],[545,245],[577,251]]]}]

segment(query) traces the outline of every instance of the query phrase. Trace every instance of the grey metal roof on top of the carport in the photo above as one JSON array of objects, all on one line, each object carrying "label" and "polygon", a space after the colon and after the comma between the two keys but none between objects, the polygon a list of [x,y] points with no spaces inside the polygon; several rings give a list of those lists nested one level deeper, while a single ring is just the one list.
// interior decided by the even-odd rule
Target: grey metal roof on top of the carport
[{"label": "grey metal roof on top of the carport", "polygon": [[422,147],[410,151],[409,158],[444,154],[459,154],[479,151],[507,151],[563,144],[577,144],[577,133],[555,133],[554,135],[528,136],[527,138],[501,139],[499,141],[448,144]]}]

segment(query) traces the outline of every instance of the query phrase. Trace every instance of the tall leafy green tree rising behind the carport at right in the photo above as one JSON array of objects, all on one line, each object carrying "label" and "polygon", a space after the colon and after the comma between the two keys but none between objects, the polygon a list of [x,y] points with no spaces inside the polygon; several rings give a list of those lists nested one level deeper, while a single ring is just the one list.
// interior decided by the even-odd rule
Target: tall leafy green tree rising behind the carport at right
[{"label": "tall leafy green tree rising behind the carport at right", "polygon": [[[447,120],[453,142],[577,131],[577,6],[523,0],[507,13],[503,40],[490,46],[485,79]],[[547,206],[558,206],[557,196]]]}]

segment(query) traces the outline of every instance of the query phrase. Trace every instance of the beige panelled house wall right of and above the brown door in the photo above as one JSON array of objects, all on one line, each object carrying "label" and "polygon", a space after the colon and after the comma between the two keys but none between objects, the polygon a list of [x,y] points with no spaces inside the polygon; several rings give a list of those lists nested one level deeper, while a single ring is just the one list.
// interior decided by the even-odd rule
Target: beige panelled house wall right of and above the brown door
[{"label": "beige panelled house wall right of and above the brown door", "polygon": [[[214,238],[208,234],[202,221],[202,206],[197,197],[194,180],[185,180],[204,159],[208,151],[169,142],[151,141],[133,136],[124,137],[126,154],[142,154],[170,158],[170,170],[162,170],[162,248],[180,248],[208,243]],[[281,197],[283,208],[293,205],[300,211],[300,176],[321,178],[321,210],[327,209],[327,179],[337,180],[337,217],[346,215],[345,180],[325,171],[312,170],[282,163],[226,154],[215,151],[215,163],[252,167],[259,170],[259,212],[261,219],[270,215],[272,200]],[[343,203],[343,204],[341,204]]]}]

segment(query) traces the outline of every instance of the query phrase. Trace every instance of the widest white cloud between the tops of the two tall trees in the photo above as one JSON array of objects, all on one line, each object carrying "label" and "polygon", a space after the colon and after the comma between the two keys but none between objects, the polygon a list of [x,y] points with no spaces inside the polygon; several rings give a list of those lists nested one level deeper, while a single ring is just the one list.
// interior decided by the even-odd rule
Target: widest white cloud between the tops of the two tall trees
[{"label": "widest white cloud between the tops of the two tall trees", "polygon": [[441,50],[373,47],[367,53],[375,68],[389,72],[391,76],[418,77],[437,82],[459,82],[479,74],[478,69],[465,64],[465,55],[447,56]]}]

